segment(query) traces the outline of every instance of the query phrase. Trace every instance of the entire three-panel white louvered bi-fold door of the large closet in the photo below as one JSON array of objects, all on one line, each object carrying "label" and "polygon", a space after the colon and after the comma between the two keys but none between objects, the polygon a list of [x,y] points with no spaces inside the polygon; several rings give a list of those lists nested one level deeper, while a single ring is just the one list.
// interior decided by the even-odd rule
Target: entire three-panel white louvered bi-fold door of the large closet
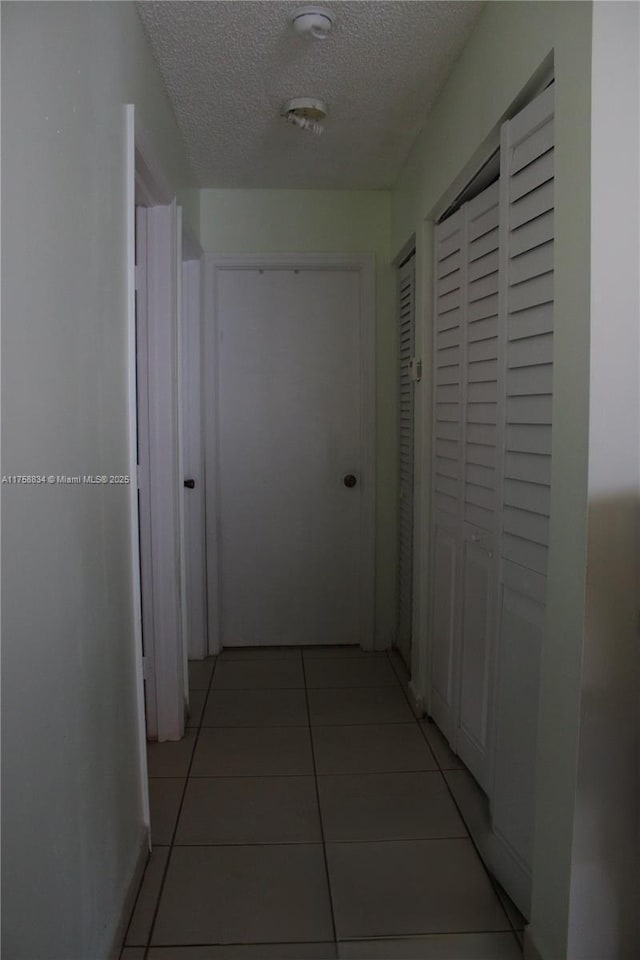
[{"label": "entire three-panel white louvered bi-fold door of the large closet", "polygon": [[553,86],[435,231],[430,712],[530,877],[553,375]]}]

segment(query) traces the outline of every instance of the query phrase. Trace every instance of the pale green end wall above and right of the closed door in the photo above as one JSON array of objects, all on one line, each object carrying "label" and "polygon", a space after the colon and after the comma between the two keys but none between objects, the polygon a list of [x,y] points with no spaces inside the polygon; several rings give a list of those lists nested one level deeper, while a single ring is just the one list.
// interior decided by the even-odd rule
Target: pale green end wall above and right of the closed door
[{"label": "pale green end wall above and right of the closed door", "polygon": [[203,190],[209,253],[374,253],[376,257],[376,642],[396,618],[395,274],[389,263],[389,194],[382,190]]}]

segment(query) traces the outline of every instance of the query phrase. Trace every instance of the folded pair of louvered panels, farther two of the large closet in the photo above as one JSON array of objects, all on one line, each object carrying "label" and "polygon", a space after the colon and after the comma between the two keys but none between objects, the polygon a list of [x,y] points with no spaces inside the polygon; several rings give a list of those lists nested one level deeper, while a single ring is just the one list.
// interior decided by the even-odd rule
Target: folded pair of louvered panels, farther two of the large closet
[{"label": "folded pair of louvered panels, farther two of the large closet", "polygon": [[499,535],[499,182],[436,230],[431,713],[488,787]]}]

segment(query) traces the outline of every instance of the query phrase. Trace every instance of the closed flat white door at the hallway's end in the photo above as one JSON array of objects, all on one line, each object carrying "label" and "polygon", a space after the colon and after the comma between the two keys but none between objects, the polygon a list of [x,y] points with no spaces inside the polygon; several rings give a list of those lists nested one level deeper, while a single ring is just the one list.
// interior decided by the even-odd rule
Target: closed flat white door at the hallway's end
[{"label": "closed flat white door at the hallway's end", "polygon": [[370,646],[363,271],[218,267],[214,296],[220,641]]}]

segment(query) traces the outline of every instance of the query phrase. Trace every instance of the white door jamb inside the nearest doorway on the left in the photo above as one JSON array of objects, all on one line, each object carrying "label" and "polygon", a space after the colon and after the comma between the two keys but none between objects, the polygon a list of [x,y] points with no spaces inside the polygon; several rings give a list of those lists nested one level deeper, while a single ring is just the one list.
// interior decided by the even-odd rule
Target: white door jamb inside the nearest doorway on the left
[{"label": "white door jamb inside the nearest doorway on the left", "polygon": [[138,452],[147,734],[184,734],[184,571],[179,401],[180,218],[138,210]]}]

